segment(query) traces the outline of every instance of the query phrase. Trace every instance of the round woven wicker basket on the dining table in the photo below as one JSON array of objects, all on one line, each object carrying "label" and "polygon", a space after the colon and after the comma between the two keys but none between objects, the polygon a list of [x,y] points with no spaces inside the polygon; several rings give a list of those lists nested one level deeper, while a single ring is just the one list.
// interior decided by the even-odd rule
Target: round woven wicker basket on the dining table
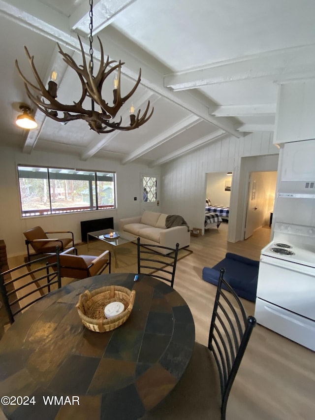
[{"label": "round woven wicker basket on the dining table", "polygon": [[[76,305],[82,323],[92,331],[111,331],[128,319],[136,292],[122,286],[105,286],[94,291],[85,291]],[[111,302],[122,302],[125,311],[113,318],[106,318],[104,308]]]}]

